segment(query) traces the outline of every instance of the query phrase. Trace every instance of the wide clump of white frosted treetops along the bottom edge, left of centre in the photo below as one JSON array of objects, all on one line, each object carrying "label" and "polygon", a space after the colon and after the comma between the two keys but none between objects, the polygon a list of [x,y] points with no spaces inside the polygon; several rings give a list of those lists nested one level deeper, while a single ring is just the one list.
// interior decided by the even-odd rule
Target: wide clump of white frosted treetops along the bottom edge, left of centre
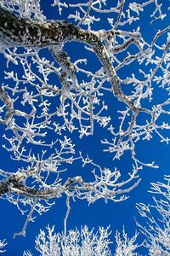
[{"label": "wide clump of white frosted treetops along the bottom edge, left of centre", "polygon": [[[40,234],[36,238],[36,250],[40,255],[54,256],[79,256],[79,255],[111,255],[109,244],[111,241],[108,229],[99,228],[99,231],[94,233],[94,230],[88,230],[85,226],[81,230],[69,230],[68,234],[54,233],[54,227],[47,227],[46,230],[40,230]],[[29,254],[30,253],[30,254]],[[23,256],[29,256],[31,252],[25,252]]]}]

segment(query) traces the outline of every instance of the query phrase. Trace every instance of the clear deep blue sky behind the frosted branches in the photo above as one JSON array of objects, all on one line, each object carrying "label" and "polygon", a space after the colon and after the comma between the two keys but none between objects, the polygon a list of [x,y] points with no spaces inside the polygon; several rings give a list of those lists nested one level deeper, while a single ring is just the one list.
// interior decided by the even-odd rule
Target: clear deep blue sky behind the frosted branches
[{"label": "clear deep blue sky behind the frosted branches", "polygon": [[[111,2],[111,1],[109,1]],[[164,1],[160,1],[164,2]],[[168,1],[167,1],[168,2]],[[165,3],[164,8],[166,9],[168,3]],[[47,15],[48,19],[58,20],[61,19],[57,13],[57,9],[50,8],[48,3],[42,3],[42,9],[44,10],[45,15]],[[140,27],[141,32],[144,35],[144,38],[150,42],[153,36],[156,34],[156,31],[166,25],[168,25],[168,18],[160,21],[156,20],[156,22],[149,27],[150,20],[150,10],[152,8],[148,8],[148,11],[145,11],[144,14],[141,15]],[[62,16],[62,19],[65,19],[67,13],[70,12],[70,9],[65,9],[65,14]],[[105,22],[102,21],[101,22]],[[104,25],[102,25],[104,26]],[[134,23],[134,27],[135,27]],[[97,29],[97,28],[96,28]],[[126,29],[132,30],[132,27],[127,26]],[[68,52],[68,55],[71,56],[72,59],[77,58],[77,55],[86,55],[86,57],[91,58],[91,54],[85,53],[82,45],[77,43],[66,44],[65,49]],[[42,53],[42,54],[47,54]],[[159,54],[159,53],[158,53]],[[44,55],[44,56],[45,56]],[[48,55],[48,54],[47,54]],[[3,67],[4,59],[3,55],[0,55],[0,60],[2,62],[1,65],[1,78],[3,78],[3,71],[5,67]],[[99,66],[99,61],[94,59],[90,59],[89,69],[94,69],[96,66]],[[11,66],[12,67],[12,66]],[[135,63],[130,67],[124,68],[120,71],[120,77],[123,77],[123,72],[126,75],[130,75],[130,73],[137,72],[138,65]],[[147,67],[146,67],[147,68]],[[1,84],[3,80],[1,81]],[[155,102],[160,102],[162,97],[167,96],[167,92],[162,93],[162,90],[159,90],[156,84],[153,84],[155,91]],[[106,98],[106,102],[108,103],[110,115],[113,115],[112,109],[114,111],[116,109],[122,108],[122,103],[117,102],[116,98],[111,96],[111,94],[106,93],[104,97]],[[141,122],[144,117],[140,117]],[[166,117],[166,121],[169,118]],[[114,119],[114,125],[118,125],[117,120]],[[1,134],[3,135],[4,127],[1,125]],[[66,135],[66,132],[65,132]],[[82,151],[83,154],[88,154],[94,162],[103,167],[110,167],[112,170],[117,166],[124,177],[126,177],[127,172],[132,170],[132,160],[130,154],[127,152],[121,160],[113,161],[113,154],[104,153],[103,149],[105,145],[101,145],[100,139],[103,139],[104,136],[110,137],[108,131],[106,129],[102,129],[99,124],[94,125],[94,136],[82,137],[80,140],[77,132],[71,134],[71,139],[73,143],[76,144],[76,149],[78,151]],[[4,143],[3,138],[1,138],[1,143]],[[37,150],[37,149],[36,149]],[[71,213],[68,218],[68,229],[80,228],[83,225],[88,225],[88,227],[98,229],[99,226],[107,227],[111,225],[111,240],[114,240],[114,236],[116,230],[121,231],[122,227],[125,226],[127,230],[127,234],[129,236],[133,236],[134,230],[136,230],[134,217],[140,219],[140,222],[143,220],[139,218],[139,213],[135,208],[135,204],[138,202],[149,203],[151,201],[151,195],[147,192],[150,189],[150,182],[162,181],[163,176],[169,173],[169,154],[170,148],[165,143],[160,143],[158,137],[153,137],[149,142],[140,141],[137,145],[137,156],[139,160],[143,160],[145,162],[151,162],[153,160],[156,161],[156,165],[160,166],[159,169],[152,169],[149,167],[144,167],[143,170],[139,172],[139,176],[142,177],[141,183],[139,183],[138,188],[133,189],[129,193],[129,199],[127,201],[122,201],[119,203],[114,203],[112,201],[108,201],[107,204],[103,200],[96,201],[94,204],[88,207],[87,201],[77,200],[76,202],[71,201]],[[10,160],[10,155],[4,148],[0,148],[1,155],[1,168],[6,169],[7,171],[17,169],[17,166],[20,166],[20,163]],[[69,177],[69,175],[81,175],[85,178],[89,178],[91,176],[90,170],[86,170],[82,168],[79,164],[73,164],[70,166],[68,172],[64,174],[65,177]],[[37,216],[35,222],[30,223],[27,227],[26,237],[16,237],[13,239],[14,232],[18,232],[21,230],[26,216],[21,216],[20,212],[14,205],[9,204],[8,201],[0,201],[1,207],[1,218],[0,218],[0,239],[6,238],[8,241],[7,252],[3,253],[5,256],[13,256],[13,255],[22,255],[24,249],[29,249],[31,252],[34,252],[34,238],[37,236],[40,229],[45,229],[47,224],[55,225],[56,232],[60,232],[63,230],[63,218],[65,217],[65,197],[59,198],[56,200],[54,207],[50,209],[49,212],[44,213],[42,216]],[[142,236],[140,237],[142,239]],[[112,248],[114,245],[111,246]],[[143,249],[144,250],[144,249]],[[144,251],[140,251],[144,255]]]}]

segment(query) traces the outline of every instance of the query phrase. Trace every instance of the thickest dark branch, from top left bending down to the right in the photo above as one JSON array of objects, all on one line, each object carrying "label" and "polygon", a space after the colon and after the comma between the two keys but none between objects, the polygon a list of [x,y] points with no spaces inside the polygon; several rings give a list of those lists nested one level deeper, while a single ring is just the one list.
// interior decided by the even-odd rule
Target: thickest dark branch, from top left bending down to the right
[{"label": "thickest dark branch, from top left bending down to the right", "polygon": [[[128,100],[127,96],[122,93],[120,79],[116,75],[99,35],[82,30],[67,21],[28,20],[0,8],[0,43],[4,47],[48,47],[50,49],[51,46],[56,45],[60,50],[60,47],[68,41],[82,42],[94,49],[99,61],[105,68],[105,72],[108,74],[113,93],[119,100],[125,102],[129,108],[136,112],[137,109],[134,107],[133,102]],[[65,59],[63,66],[65,66]]]}]

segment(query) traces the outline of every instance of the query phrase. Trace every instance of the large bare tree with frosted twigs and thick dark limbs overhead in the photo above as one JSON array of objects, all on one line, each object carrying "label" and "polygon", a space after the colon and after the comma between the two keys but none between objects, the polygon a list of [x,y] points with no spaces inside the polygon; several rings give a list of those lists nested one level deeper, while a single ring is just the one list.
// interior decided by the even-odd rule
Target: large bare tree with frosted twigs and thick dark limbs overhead
[{"label": "large bare tree with frosted twigs and thick dark limbs overhead", "polygon": [[[48,211],[53,205],[51,200],[62,195],[66,195],[65,222],[70,198],[89,203],[99,198],[127,199],[127,193],[139,184],[138,171],[143,166],[157,167],[154,162],[143,163],[137,158],[136,143],[150,140],[153,135],[161,142],[169,142],[162,131],[170,128],[163,119],[170,113],[169,26],[158,30],[149,43],[139,27],[131,26],[140,20],[141,11],[148,5],[154,8],[151,22],[163,20],[166,15],[161,12],[161,4],[150,0],[127,5],[122,0],[110,7],[105,0],[76,4],[58,0],[53,5],[58,7],[61,17],[62,9],[72,9],[68,20],[46,20],[38,0],[0,3],[0,44],[6,60],[0,88],[0,123],[5,127],[6,140],[3,148],[21,165],[15,172],[0,170],[0,195],[21,212],[24,210],[20,205],[31,206],[19,234],[25,235],[32,212]],[[110,28],[105,30],[101,23],[97,31],[95,24],[105,13]],[[124,28],[127,24],[128,31]],[[99,69],[89,71],[88,60],[78,56],[76,61],[71,61],[64,48],[69,42],[83,44],[100,63]],[[132,45],[134,54],[130,52]],[[133,62],[139,65],[136,73],[131,77],[118,75]],[[146,70],[145,65],[150,69]],[[125,93],[128,84],[129,91]],[[152,104],[154,84],[160,90],[167,90],[167,94],[161,102]],[[105,115],[111,107],[107,106],[107,99],[103,100],[108,94],[113,101],[122,102],[122,109],[113,110],[118,122],[115,127],[113,116]],[[140,114],[144,114],[142,124]],[[112,141],[104,138],[102,143],[108,147],[106,152],[114,154],[114,160],[127,150],[131,153],[133,170],[126,180],[118,180],[121,172],[117,169],[98,166],[88,156],[75,152],[69,135],[73,132],[78,132],[80,138],[93,135],[96,123],[111,132]],[[51,133],[53,141],[50,141]],[[36,153],[36,146],[42,146],[42,153]],[[49,148],[48,152],[44,148]],[[50,148],[54,149],[53,153]],[[81,175],[62,179],[65,168],[77,161],[82,166],[92,166],[91,182]]]}]

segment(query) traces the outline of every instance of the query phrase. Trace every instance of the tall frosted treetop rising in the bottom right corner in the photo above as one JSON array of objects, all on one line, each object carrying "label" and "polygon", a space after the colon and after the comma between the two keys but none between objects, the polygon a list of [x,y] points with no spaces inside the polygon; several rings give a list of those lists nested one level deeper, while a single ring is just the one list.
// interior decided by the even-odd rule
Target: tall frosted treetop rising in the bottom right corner
[{"label": "tall frosted treetop rising in the bottom right corner", "polygon": [[137,208],[146,226],[137,222],[137,226],[146,237],[144,246],[149,255],[168,255],[170,253],[170,177],[164,182],[151,183],[150,193],[155,194],[153,204],[139,203]]}]

